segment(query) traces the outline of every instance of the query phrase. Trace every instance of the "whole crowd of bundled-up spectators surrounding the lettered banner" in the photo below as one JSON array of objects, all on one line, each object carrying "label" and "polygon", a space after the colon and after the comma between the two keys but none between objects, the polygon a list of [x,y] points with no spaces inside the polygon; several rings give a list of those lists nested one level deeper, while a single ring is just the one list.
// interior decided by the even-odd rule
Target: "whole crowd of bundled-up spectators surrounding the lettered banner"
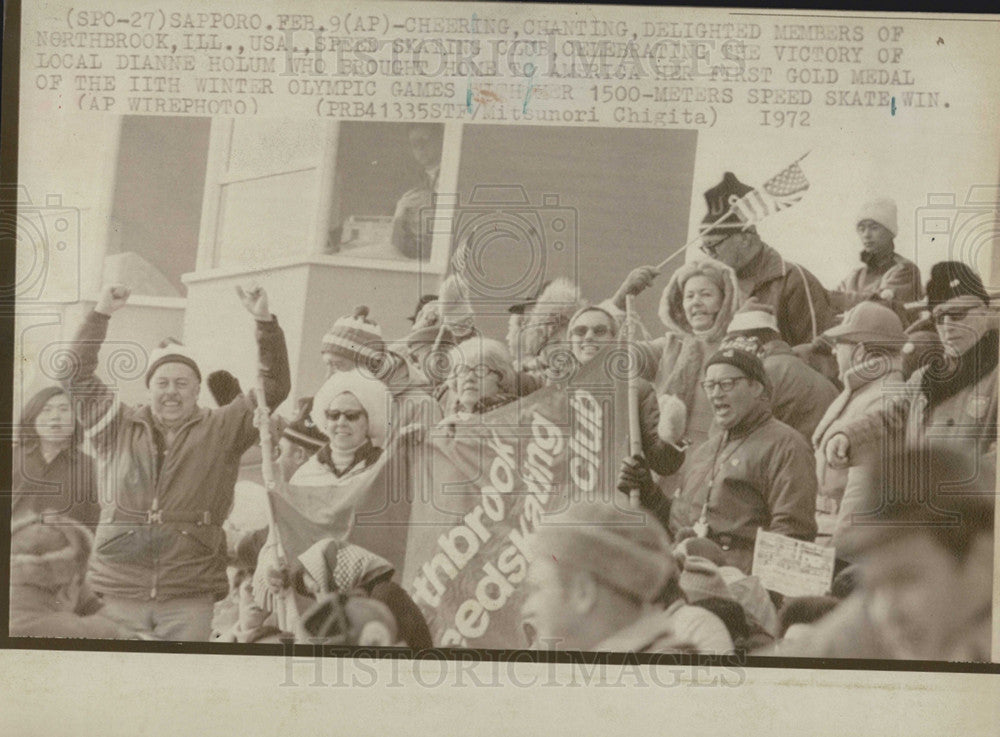
[{"label": "whole crowd of bundled-up spectators surrounding the lettered banner", "polygon": [[[510,647],[989,660],[990,294],[958,261],[934,264],[924,283],[895,250],[888,199],[857,214],[861,264],[828,290],[739,212],[719,218],[749,191],[726,173],[705,193],[703,256],[662,289],[662,334],[626,315],[659,278],[653,267],[596,302],[553,280],[511,307],[506,341],[477,329],[459,275],[420,298],[398,340],[368,308],[337,319],[320,348],[328,378],[273,425],[275,468],[324,524],[293,560],[273,525],[224,531],[241,458],[290,392],[264,290],[239,290],[262,390],[217,372],[209,409],[199,364],[176,342],[151,355],[147,404],[126,406],[96,376],[129,297],[107,286],[72,343],[72,371],[21,417],[10,634],[434,646],[399,571],[356,544],[350,506],[324,495],[432,430],[454,434],[558,385],[567,355],[586,365],[627,328],[642,452],[611,460],[615,493],[638,491],[648,523],[608,524],[609,505],[581,502],[539,526],[526,639]],[[828,590],[767,590],[753,572],[759,530],[832,547]],[[279,614],[288,598],[293,624]]]}]

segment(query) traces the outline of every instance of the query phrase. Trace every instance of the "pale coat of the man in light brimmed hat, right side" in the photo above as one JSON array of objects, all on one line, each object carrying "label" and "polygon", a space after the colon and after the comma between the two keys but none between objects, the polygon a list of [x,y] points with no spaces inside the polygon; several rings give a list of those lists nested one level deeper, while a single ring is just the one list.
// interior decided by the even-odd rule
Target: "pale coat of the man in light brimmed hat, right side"
[{"label": "pale coat of the man in light brimmed hat, right side", "polygon": [[833,531],[834,547],[850,526],[851,515],[858,510],[864,500],[872,474],[881,458],[881,447],[870,443],[858,448],[855,465],[847,469],[833,469],[826,463],[826,443],[844,427],[855,420],[870,416],[882,408],[892,387],[903,385],[903,373],[898,360],[885,367],[878,375],[864,369],[852,368],[844,375],[844,391],[834,400],[820,420],[812,436],[816,449],[816,478],[819,481],[819,495],[829,499],[832,509],[837,509],[837,521]]}]

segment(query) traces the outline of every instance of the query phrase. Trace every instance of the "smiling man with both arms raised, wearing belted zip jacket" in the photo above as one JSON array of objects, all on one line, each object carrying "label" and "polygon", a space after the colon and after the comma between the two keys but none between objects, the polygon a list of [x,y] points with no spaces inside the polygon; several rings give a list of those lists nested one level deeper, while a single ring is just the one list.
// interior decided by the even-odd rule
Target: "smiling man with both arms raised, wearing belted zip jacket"
[{"label": "smiling man with both arms raised, wearing belted zip jacket", "polygon": [[[228,591],[222,522],[233,504],[240,456],[257,441],[256,405],[240,395],[198,406],[201,371],[180,345],[150,356],[149,404],[127,406],[95,371],[109,320],[130,289],[106,287],[70,344],[67,392],[98,459],[101,521],[90,584],[109,616],[158,639],[206,641],[213,605]],[[284,334],[263,289],[237,288],[256,322],[268,407],[290,388]]]}]

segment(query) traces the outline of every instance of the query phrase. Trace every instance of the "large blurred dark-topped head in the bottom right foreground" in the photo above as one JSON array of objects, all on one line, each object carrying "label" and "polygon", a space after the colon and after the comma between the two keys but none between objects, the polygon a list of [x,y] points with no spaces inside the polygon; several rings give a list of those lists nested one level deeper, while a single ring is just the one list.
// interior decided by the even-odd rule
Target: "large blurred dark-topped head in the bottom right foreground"
[{"label": "large blurred dark-topped head in the bottom right foreground", "polygon": [[868,618],[893,657],[989,660],[994,464],[890,455],[853,515],[843,552],[860,563]]}]

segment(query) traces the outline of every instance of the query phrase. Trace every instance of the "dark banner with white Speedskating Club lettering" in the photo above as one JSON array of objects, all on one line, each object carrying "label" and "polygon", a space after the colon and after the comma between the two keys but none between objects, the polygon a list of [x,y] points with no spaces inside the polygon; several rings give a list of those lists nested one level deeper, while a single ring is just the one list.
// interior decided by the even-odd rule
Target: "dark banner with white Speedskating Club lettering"
[{"label": "dark banner with white Speedskating Club lettering", "polygon": [[468,422],[439,425],[413,470],[403,586],[435,646],[519,648],[526,539],[575,500],[615,491],[628,451],[625,355]]}]

